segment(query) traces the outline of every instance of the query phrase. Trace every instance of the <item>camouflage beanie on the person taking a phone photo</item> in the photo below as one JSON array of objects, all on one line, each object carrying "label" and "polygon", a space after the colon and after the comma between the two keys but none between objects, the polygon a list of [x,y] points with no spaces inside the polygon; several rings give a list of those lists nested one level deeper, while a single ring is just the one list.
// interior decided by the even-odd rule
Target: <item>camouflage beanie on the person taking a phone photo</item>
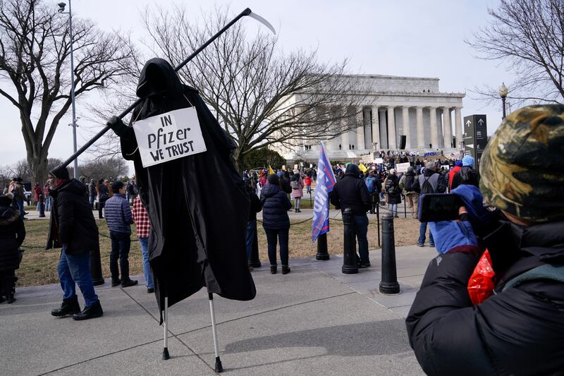
[{"label": "camouflage beanie on the person taking a phone photo", "polygon": [[564,105],[509,114],[480,161],[484,198],[531,222],[564,218]]}]

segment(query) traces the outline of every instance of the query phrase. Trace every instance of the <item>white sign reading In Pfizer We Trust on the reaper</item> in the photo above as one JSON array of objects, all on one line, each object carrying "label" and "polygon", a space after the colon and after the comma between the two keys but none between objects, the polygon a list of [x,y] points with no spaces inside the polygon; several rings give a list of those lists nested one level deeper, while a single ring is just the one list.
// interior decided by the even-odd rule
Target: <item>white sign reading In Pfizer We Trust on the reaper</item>
[{"label": "white sign reading In Pfizer We Trust on the reaper", "polygon": [[133,130],[143,167],[206,151],[195,107],[135,121]]}]

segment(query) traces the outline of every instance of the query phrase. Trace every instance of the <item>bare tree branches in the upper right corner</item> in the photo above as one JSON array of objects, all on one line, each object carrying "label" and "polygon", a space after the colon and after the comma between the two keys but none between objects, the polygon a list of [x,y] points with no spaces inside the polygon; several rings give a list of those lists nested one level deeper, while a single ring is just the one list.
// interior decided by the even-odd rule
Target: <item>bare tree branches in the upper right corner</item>
[{"label": "bare tree branches in the upper right corner", "polygon": [[[503,61],[515,73],[508,98],[513,104],[527,100],[562,103],[564,1],[501,0],[488,13],[494,20],[466,42],[483,59]],[[496,88],[476,91],[486,99],[498,99]]]}]

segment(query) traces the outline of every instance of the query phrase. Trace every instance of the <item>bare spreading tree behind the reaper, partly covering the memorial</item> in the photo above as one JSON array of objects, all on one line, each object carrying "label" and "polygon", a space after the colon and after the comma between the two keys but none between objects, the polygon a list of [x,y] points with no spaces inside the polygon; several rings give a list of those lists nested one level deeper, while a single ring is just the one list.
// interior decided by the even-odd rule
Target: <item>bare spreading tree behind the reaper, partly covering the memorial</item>
[{"label": "bare spreading tree behind the reaper, partly covering the memorial", "polygon": [[[230,19],[227,9],[200,18],[176,7],[147,11],[144,23],[154,48],[176,65]],[[233,25],[179,72],[231,135],[239,169],[245,154],[259,147],[293,148],[360,126],[356,115],[367,88],[343,75],[347,61],[320,63],[317,51],[283,54],[276,37],[249,37],[247,25]]]}]

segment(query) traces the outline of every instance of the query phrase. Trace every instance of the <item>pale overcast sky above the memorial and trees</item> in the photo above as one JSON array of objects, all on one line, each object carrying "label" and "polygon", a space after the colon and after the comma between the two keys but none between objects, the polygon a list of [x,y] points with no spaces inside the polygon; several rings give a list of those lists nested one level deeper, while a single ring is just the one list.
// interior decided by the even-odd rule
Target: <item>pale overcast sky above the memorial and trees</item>
[{"label": "pale overcast sky above the memorial and trees", "polygon": [[[52,1],[53,6],[59,1]],[[49,4],[49,1],[44,2]],[[91,18],[103,30],[133,30],[134,37],[142,37],[140,11],[156,2],[165,7],[174,3],[73,0],[72,5],[75,17]],[[489,134],[494,133],[501,121],[501,102],[488,106],[472,99],[475,95],[470,90],[483,85],[498,87],[502,81],[507,84],[513,75],[498,62],[477,59],[475,51],[464,43],[491,19],[487,8],[495,8],[496,0],[233,0],[216,3],[183,0],[181,3],[194,10],[195,18],[200,10],[212,10],[214,4],[230,5],[234,14],[249,7],[274,25],[285,51],[317,48],[320,61],[349,58],[350,73],[440,78],[441,92],[467,93],[462,101],[462,116],[486,114]],[[255,20],[243,22],[252,31],[259,27]],[[6,82],[0,81],[0,85],[9,87]],[[0,97],[0,111],[3,130],[0,164],[8,165],[25,158],[25,145],[16,107]],[[78,116],[81,111],[79,97]],[[67,126],[71,122],[70,114],[69,111],[56,131],[49,157],[66,159],[72,154],[72,131]],[[84,129],[92,124],[85,121],[79,124],[80,147],[89,137]]]}]

